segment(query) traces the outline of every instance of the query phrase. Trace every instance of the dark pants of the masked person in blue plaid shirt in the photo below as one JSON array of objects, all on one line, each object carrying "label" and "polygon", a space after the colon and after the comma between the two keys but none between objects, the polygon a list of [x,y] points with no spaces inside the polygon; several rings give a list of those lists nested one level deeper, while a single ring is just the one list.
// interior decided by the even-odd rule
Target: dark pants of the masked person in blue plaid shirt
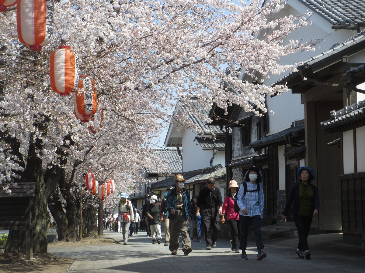
[{"label": "dark pants of the masked person in blue plaid shirt", "polygon": [[247,236],[250,222],[252,223],[253,232],[255,234],[257,251],[260,251],[265,247],[264,244],[262,244],[260,215],[255,215],[255,216],[239,215],[239,223],[241,224],[241,234],[242,234],[239,248],[242,250],[242,252],[244,252],[247,249]]}]

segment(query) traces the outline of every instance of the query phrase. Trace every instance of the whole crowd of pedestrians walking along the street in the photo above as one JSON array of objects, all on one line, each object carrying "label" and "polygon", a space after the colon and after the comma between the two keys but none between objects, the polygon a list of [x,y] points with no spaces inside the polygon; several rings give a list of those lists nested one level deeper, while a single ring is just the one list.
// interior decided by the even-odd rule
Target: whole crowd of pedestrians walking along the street
[{"label": "whole crowd of pedestrians walking along the street", "polygon": [[[293,203],[292,214],[299,234],[296,250],[298,258],[311,258],[307,237],[312,218],[319,212],[318,189],[311,184],[315,179],[314,171],[309,167],[297,170],[300,180],[293,185],[283,211],[282,219],[287,222],[288,211]],[[209,178],[198,195],[190,198],[189,191],[184,188],[183,175],[174,177],[174,185],[158,203],[156,195],[146,198],[145,205],[136,210],[127,194],[120,194],[114,214],[104,216],[104,229],[123,233],[123,244],[128,244],[128,237],[139,231],[146,231],[152,244],[161,244],[161,223],[165,223],[165,246],[169,246],[172,255],[176,255],[182,238],[184,255],[192,252],[192,241],[200,242],[204,234],[206,250],[216,247],[221,223],[227,219],[231,229],[231,251],[241,253],[241,260],[248,260],[246,253],[249,225],[252,225],[257,248],[256,260],[266,258],[267,254],[261,236],[261,222],[264,210],[264,190],[261,170],[250,167],[243,181],[229,182],[227,195],[222,199],[220,189],[215,187],[215,179]],[[189,231],[190,227],[190,231]]]}]

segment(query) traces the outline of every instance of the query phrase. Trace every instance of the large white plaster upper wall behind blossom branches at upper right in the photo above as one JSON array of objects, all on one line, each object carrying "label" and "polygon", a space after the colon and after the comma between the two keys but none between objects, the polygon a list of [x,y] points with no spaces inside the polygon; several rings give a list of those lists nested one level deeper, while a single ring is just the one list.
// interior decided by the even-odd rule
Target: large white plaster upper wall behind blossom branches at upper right
[{"label": "large white plaster upper wall behind blossom branches at upper right", "polygon": [[[276,17],[287,15],[302,15],[306,13],[308,8],[301,4],[297,0],[287,0],[289,5],[285,7]],[[304,51],[296,52],[290,56],[283,56],[279,62],[281,64],[297,64],[304,62],[312,56],[317,56],[321,52],[329,50],[334,44],[342,43],[349,39],[353,35],[356,35],[356,31],[351,30],[335,30],[331,29],[332,25],[324,20],[317,14],[313,14],[308,21],[312,21],[311,25],[297,29],[292,32],[289,37],[284,39],[283,44],[287,44],[289,39],[300,40],[304,42],[310,38],[323,39],[318,44],[316,51]],[[260,36],[258,37],[260,39]],[[291,71],[285,71],[279,75],[270,75],[270,78],[266,78],[264,84],[269,86],[270,84],[277,82],[281,78],[290,74]],[[294,120],[304,119],[304,106],[301,105],[300,94],[291,94],[291,91],[283,93],[278,96],[266,97],[268,112],[274,111],[274,115],[269,114],[269,133],[274,134],[282,131],[285,128],[289,128]]]}]

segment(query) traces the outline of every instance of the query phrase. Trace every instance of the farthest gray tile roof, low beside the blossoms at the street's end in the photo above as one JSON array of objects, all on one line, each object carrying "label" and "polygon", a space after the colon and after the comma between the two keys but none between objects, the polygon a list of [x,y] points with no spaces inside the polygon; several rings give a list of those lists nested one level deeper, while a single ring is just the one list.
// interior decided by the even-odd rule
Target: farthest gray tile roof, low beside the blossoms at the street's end
[{"label": "farthest gray tile roof, low beside the blossoms at the street's end", "polygon": [[[183,159],[176,149],[155,149],[153,155],[161,158],[167,166],[167,169],[163,173],[181,173],[183,171]],[[158,173],[159,171],[146,167],[146,172]]]}]

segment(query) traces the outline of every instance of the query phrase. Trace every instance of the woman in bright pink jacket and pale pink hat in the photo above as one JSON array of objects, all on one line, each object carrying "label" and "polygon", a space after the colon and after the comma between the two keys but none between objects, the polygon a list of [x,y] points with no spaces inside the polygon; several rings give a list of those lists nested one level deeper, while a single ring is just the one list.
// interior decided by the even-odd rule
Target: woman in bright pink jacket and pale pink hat
[{"label": "woman in bright pink jacket and pale pink hat", "polygon": [[[237,181],[231,180],[228,186],[227,196],[224,198],[222,206],[222,215],[227,215],[228,224],[232,230],[231,250],[239,253],[238,237],[241,237],[241,226],[239,225],[239,207],[237,205]],[[235,209],[236,204],[236,209]],[[235,210],[237,212],[235,212]],[[224,223],[224,216],[222,223]]]}]

